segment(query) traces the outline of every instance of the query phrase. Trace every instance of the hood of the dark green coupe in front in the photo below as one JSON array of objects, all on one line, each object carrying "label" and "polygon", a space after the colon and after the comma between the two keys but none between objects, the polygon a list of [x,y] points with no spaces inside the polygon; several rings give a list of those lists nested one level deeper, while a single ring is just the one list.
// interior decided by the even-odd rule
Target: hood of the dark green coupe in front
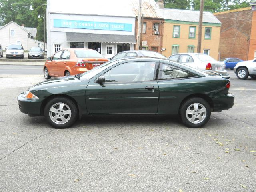
[{"label": "hood of the dark green coupe in front", "polygon": [[64,76],[60,78],[52,78],[50,80],[45,80],[40,82],[32,87],[29,91],[36,92],[40,90],[56,89],[56,88],[65,88],[65,87],[75,87],[75,86],[87,86],[88,80],[78,79],[75,76]]}]

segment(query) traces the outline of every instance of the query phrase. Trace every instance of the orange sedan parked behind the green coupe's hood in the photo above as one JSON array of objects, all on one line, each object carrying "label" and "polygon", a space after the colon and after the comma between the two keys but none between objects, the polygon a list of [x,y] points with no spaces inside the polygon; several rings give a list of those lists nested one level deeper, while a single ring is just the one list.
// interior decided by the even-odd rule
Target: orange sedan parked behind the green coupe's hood
[{"label": "orange sedan parked behind the green coupe's hood", "polygon": [[84,73],[96,66],[108,62],[95,50],[85,48],[67,48],[48,57],[44,64],[44,78],[70,76]]}]

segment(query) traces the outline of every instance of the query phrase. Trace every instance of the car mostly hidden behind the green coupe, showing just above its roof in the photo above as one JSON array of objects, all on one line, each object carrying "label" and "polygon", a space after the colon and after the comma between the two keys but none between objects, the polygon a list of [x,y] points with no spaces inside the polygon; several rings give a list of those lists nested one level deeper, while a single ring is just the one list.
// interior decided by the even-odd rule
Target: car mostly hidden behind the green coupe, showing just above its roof
[{"label": "car mostly hidden behind the green coupe, showing just above its roof", "polygon": [[123,51],[118,54],[116,54],[114,57],[109,58],[109,60],[114,60],[114,59],[120,59],[120,58],[125,58],[125,57],[154,57],[154,58],[164,58],[166,59],[165,56],[161,55],[158,52],[154,51]]}]

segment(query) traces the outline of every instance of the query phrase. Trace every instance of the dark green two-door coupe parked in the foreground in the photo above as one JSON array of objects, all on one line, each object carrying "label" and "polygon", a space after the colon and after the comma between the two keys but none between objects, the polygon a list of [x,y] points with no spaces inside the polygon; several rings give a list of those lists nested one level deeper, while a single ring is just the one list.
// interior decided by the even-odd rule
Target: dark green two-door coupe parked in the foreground
[{"label": "dark green two-door coupe parked in the foreground", "polygon": [[67,128],[82,115],[176,114],[204,126],[211,112],[228,110],[230,80],[159,58],[113,60],[83,74],[46,80],[18,96],[21,112],[44,115]]}]

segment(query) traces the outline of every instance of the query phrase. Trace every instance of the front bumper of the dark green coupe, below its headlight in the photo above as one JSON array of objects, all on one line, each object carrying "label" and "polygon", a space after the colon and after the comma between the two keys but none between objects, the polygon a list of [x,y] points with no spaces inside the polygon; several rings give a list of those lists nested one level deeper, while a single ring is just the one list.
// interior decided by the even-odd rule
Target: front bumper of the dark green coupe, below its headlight
[{"label": "front bumper of the dark green coupe, below its headlight", "polygon": [[23,97],[23,93],[18,96],[18,105],[22,113],[29,115],[41,115],[42,99],[32,100]]}]

